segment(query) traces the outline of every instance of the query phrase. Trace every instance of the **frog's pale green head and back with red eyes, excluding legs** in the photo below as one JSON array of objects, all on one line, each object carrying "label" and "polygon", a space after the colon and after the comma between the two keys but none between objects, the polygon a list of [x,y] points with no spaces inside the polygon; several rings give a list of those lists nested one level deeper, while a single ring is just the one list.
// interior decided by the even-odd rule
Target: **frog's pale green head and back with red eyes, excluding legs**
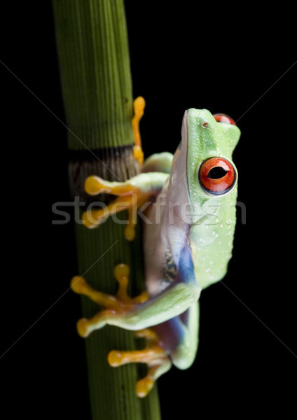
[{"label": "frog's pale green head and back with red eyes, excluding legs", "polygon": [[233,120],[222,114],[188,109],[181,150],[191,208],[191,249],[202,288],[219,281],[232,255],[237,200],[237,170],[232,153],[240,138]]}]

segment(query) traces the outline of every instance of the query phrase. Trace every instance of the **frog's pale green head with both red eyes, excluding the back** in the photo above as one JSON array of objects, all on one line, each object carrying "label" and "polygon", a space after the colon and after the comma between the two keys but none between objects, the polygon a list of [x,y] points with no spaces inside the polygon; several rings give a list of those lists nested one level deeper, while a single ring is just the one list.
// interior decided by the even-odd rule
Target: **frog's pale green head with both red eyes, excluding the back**
[{"label": "frog's pale green head with both red eyes, excluding the back", "polygon": [[240,138],[235,122],[206,109],[188,109],[182,137],[187,149],[188,194],[192,203],[203,204],[236,190],[237,170],[232,153]]}]

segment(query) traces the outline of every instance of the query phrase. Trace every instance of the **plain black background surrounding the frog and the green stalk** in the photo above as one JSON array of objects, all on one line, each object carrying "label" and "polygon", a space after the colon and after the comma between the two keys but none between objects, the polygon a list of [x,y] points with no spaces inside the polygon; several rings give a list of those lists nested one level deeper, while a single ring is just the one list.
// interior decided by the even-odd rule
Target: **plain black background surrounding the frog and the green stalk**
[{"label": "plain black background surrounding the frog and the green stalk", "polygon": [[[202,293],[195,364],[158,381],[163,419],[288,418],[297,361],[293,10],[126,1],[126,12],[134,97],[146,99],[145,154],[174,152],[191,107],[227,113],[242,130],[234,161],[247,223],[237,224],[223,283]],[[77,274],[74,226],[51,224],[52,204],[70,197],[50,3],[6,5],[1,31],[0,409],[5,419],[88,419],[81,310],[65,293]]]}]

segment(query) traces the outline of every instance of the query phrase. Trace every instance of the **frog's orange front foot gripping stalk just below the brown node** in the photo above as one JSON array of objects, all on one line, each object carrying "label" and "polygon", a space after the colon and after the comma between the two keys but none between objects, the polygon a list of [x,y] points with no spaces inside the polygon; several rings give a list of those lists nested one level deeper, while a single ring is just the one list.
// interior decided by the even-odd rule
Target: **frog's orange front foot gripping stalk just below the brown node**
[{"label": "frog's orange front foot gripping stalk just below the brown node", "polygon": [[128,221],[125,228],[126,239],[134,239],[134,228],[137,223],[137,210],[146,202],[151,195],[150,179],[144,174],[134,176],[125,182],[105,181],[99,176],[89,176],[85,180],[85,191],[89,195],[108,193],[118,195],[116,200],[100,209],[89,209],[82,216],[83,224],[89,228],[96,228],[102,221],[119,211],[128,211]]}]

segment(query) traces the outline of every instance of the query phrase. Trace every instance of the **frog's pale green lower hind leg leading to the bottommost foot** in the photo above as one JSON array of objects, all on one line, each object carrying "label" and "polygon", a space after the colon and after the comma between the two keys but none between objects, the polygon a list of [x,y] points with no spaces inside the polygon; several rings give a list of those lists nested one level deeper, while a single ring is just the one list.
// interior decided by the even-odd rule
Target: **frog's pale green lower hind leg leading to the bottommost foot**
[{"label": "frog's pale green lower hind leg leading to the bottommost foot", "polygon": [[170,353],[172,363],[179,369],[187,369],[195,360],[198,349],[198,330],[199,330],[199,302],[195,302],[188,309],[188,321],[184,324],[179,316],[182,330],[181,340],[176,349]]}]

